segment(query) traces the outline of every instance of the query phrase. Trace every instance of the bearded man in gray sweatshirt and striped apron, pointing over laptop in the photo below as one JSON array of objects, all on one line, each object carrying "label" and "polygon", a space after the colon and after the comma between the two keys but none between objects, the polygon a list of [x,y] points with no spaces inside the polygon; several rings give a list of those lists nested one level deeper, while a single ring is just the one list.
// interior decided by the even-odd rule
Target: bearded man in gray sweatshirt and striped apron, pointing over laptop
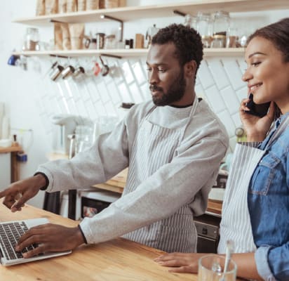
[{"label": "bearded man in gray sweatshirt and striped apron, pointing over laptop", "polygon": [[152,101],[133,106],[114,131],[101,135],[90,149],[70,160],[43,164],[31,178],[0,192],[4,204],[19,211],[39,189],[53,192],[103,183],[129,166],[119,200],[84,218],[78,228],[32,228],[20,238],[17,250],[41,243],[27,252],[29,257],[122,235],[163,251],[196,251],[193,217],[206,210],[228,147],[224,126],[196,98],[202,57],[195,30],[175,24],[161,29],[147,55]]}]

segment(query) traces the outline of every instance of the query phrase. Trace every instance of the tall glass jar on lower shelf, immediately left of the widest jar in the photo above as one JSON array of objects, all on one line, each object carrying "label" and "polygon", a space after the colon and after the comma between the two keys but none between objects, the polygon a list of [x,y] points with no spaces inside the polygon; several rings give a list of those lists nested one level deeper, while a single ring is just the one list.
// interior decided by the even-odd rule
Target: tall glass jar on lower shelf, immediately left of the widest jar
[{"label": "tall glass jar on lower shelf, immediately left of the widest jar", "polygon": [[196,20],[196,31],[202,38],[204,48],[210,48],[212,41],[212,18],[209,13],[199,12]]}]

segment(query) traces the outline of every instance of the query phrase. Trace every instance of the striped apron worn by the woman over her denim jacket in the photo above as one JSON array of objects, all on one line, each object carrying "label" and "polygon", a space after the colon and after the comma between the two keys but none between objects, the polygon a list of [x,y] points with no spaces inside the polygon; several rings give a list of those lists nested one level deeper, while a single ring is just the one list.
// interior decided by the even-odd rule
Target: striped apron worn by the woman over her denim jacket
[{"label": "striped apron worn by the woman over her denim jacket", "polygon": [[227,240],[234,241],[235,253],[256,251],[248,211],[248,187],[250,179],[269,145],[280,136],[288,124],[289,118],[287,117],[275,131],[271,131],[271,138],[269,138],[264,150],[236,144],[227,188],[224,193],[222,221],[220,223],[220,242],[217,249],[219,254],[226,252]]}]

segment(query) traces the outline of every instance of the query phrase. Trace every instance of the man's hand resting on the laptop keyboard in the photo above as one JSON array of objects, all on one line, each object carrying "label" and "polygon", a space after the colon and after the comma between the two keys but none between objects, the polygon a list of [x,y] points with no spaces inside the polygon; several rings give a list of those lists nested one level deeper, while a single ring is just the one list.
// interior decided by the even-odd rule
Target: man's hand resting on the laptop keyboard
[{"label": "man's hand resting on the laptop keyboard", "polygon": [[57,224],[46,223],[41,226],[30,228],[18,240],[16,251],[22,251],[31,244],[39,244],[39,247],[23,254],[23,257],[30,258],[48,251],[67,251],[84,243],[81,230],[67,228]]}]

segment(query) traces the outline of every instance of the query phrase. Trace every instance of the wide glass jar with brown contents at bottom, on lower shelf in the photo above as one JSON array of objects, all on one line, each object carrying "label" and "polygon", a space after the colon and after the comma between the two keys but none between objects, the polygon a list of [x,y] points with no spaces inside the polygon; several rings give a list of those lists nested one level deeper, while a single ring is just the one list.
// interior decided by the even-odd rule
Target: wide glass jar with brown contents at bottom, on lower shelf
[{"label": "wide glass jar with brown contents at bottom, on lower shelf", "polygon": [[212,48],[224,48],[230,25],[228,12],[217,11],[213,14],[213,41]]}]

